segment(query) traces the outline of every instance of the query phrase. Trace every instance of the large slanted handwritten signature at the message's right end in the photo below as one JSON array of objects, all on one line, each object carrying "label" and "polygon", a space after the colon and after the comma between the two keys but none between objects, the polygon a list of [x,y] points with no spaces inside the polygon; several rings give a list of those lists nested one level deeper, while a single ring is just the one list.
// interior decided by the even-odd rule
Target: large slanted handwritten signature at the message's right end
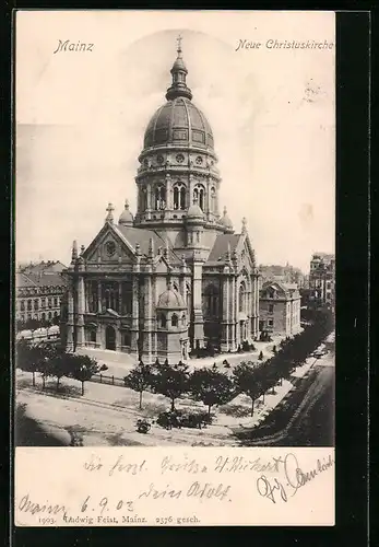
[{"label": "large slanted handwritten signature at the message's right end", "polygon": [[281,463],[283,464],[283,480],[279,480],[276,477],[268,478],[265,475],[261,475],[257,479],[258,493],[273,503],[276,503],[277,500],[287,502],[288,491],[291,491],[291,497],[295,496],[299,488],[304,487],[307,482],[313,480],[321,473],[332,467],[334,459],[331,455],[323,458],[322,462],[321,459],[318,459],[316,466],[307,472],[304,472],[300,468],[295,454],[286,454]]}]

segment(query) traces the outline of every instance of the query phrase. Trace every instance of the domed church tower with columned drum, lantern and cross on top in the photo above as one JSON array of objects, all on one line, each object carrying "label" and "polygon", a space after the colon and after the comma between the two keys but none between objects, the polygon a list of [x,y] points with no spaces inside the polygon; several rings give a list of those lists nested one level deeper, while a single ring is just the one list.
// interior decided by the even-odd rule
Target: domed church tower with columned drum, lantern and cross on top
[{"label": "domed church tower with columned drum, lantern and cross on top", "polygon": [[[225,232],[218,211],[221,178],[211,126],[187,85],[180,37],[170,73],[166,103],[151,118],[139,156],[134,226],[155,230],[190,258],[194,246],[206,254]],[[193,207],[199,230],[193,229]]]}]

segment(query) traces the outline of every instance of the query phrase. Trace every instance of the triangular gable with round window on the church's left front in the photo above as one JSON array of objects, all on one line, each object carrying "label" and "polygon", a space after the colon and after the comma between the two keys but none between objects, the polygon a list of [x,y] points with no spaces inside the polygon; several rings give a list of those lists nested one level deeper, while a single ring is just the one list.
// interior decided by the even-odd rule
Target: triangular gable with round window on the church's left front
[{"label": "triangular gable with round window on the church's left front", "polygon": [[112,224],[106,223],[84,251],[83,258],[87,263],[130,264],[135,260],[135,252]]}]

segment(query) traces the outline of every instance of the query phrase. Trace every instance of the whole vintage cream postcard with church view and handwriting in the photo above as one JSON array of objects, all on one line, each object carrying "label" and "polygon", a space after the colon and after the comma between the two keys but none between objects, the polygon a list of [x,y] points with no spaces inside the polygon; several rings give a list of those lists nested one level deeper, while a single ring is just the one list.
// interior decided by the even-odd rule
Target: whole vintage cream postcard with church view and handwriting
[{"label": "whole vintage cream postcard with church view and handwriting", "polygon": [[334,525],[334,19],[16,12],[16,526]]}]

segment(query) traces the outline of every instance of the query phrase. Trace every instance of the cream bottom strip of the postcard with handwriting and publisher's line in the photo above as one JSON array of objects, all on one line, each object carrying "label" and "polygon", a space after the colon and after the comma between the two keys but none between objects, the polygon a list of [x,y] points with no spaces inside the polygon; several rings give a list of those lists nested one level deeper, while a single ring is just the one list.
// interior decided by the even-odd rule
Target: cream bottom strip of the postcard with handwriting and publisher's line
[{"label": "cream bottom strip of the postcard with handwriting and publisher's line", "polygon": [[333,449],[16,449],[19,526],[333,525]]}]

